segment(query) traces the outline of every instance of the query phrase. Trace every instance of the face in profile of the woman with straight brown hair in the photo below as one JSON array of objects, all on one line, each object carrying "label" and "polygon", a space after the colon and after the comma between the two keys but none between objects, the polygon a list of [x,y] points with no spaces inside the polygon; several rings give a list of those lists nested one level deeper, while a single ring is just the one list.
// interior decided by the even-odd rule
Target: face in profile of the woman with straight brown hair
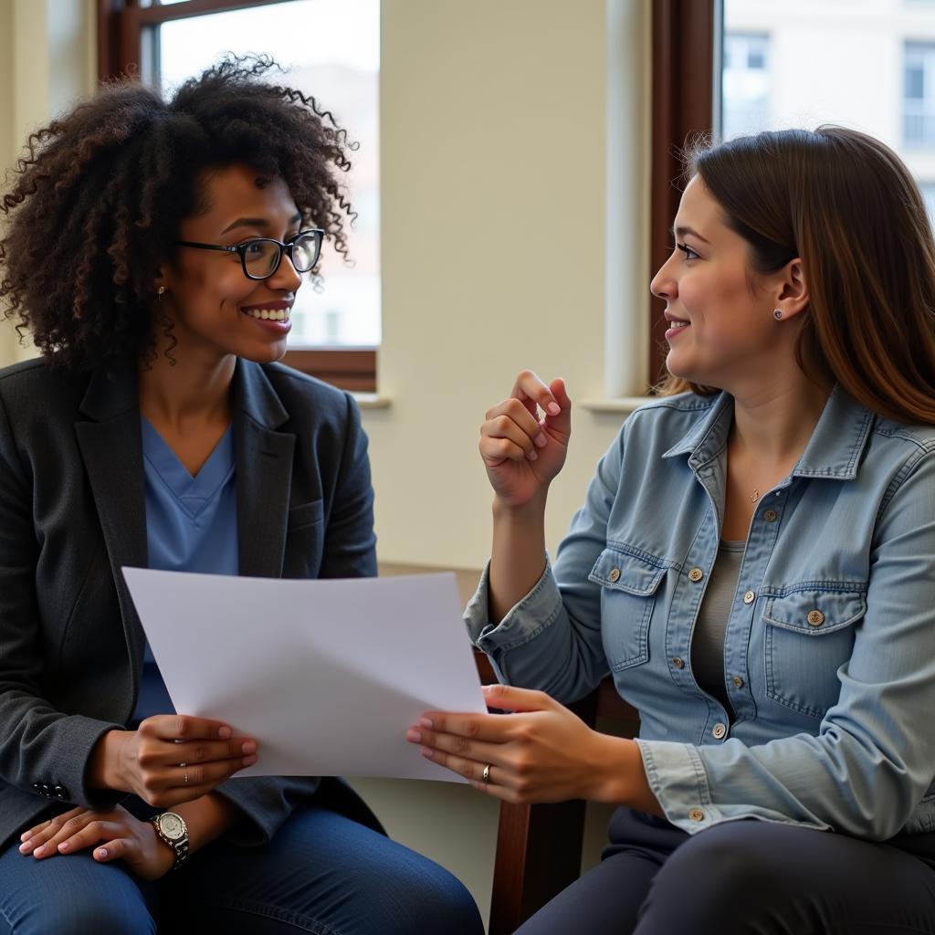
[{"label": "face in profile of the woman with straight brown hair", "polygon": [[727,226],[698,176],[682,195],[674,233],[676,246],[650,285],[666,300],[669,372],[735,396],[750,381],[770,379],[792,359],[794,329],[773,311],[788,319],[802,308],[789,282],[793,265],[770,276],[753,273],[748,243]]}]

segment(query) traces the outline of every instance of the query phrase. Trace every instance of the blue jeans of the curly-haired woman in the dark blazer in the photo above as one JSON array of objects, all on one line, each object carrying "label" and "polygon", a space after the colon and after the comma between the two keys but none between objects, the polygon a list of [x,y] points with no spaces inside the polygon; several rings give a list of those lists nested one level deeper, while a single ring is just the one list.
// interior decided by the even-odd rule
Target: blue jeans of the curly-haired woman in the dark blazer
[{"label": "blue jeans of the curly-haired woman in the dark blazer", "polygon": [[483,932],[447,870],[318,808],[296,812],[263,847],[215,841],[156,884],[86,854],[36,860],[19,843],[0,853],[0,935]]}]

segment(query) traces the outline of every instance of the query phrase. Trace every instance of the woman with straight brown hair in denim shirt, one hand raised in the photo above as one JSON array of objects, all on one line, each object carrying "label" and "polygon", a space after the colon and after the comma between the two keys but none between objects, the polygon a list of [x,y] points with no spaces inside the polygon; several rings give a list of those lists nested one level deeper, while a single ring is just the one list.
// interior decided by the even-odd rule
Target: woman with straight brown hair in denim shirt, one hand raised
[{"label": "woman with straight brown hair in denim shirt, one hand raised", "polygon": [[[523,371],[482,424],[468,626],[513,713],[427,712],[410,741],[497,798],[621,806],[524,935],[935,932],[926,209],[892,151],[831,126],[699,148],[686,180],[652,282],[669,377],[554,566],[564,381]],[[608,674],[638,740],[563,707]]]}]

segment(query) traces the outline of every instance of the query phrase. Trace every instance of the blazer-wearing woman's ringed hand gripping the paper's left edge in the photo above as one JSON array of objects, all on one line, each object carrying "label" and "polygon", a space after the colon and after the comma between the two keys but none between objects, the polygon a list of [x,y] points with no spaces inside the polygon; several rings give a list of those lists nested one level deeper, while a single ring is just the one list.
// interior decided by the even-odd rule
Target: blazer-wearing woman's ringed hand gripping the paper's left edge
[{"label": "blazer-wearing woman's ringed hand gripping the paper's left edge", "polygon": [[154,808],[192,801],[256,762],[256,741],[231,733],[220,721],[156,714],[137,730],[110,730],[97,741],[89,781]]}]

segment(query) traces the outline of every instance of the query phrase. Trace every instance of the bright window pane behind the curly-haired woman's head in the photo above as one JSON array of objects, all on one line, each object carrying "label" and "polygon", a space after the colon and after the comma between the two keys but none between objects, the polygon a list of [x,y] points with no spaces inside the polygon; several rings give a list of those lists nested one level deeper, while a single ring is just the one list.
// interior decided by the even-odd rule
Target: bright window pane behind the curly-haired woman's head
[{"label": "bright window pane behind the curly-haired woman's head", "polygon": [[[165,0],[164,0],[165,3]],[[171,91],[226,52],[266,52],[287,81],[330,110],[360,143],[344,178],[357,221],[349,231],[352,266],[327,242],[316,290],[306,282],[293,309],[290,347],[376,347],[380,344],[379,0],[289,0],[214,13],[159,28],[153,80]],[[154,69],[155,70],[155,69]]]}]

